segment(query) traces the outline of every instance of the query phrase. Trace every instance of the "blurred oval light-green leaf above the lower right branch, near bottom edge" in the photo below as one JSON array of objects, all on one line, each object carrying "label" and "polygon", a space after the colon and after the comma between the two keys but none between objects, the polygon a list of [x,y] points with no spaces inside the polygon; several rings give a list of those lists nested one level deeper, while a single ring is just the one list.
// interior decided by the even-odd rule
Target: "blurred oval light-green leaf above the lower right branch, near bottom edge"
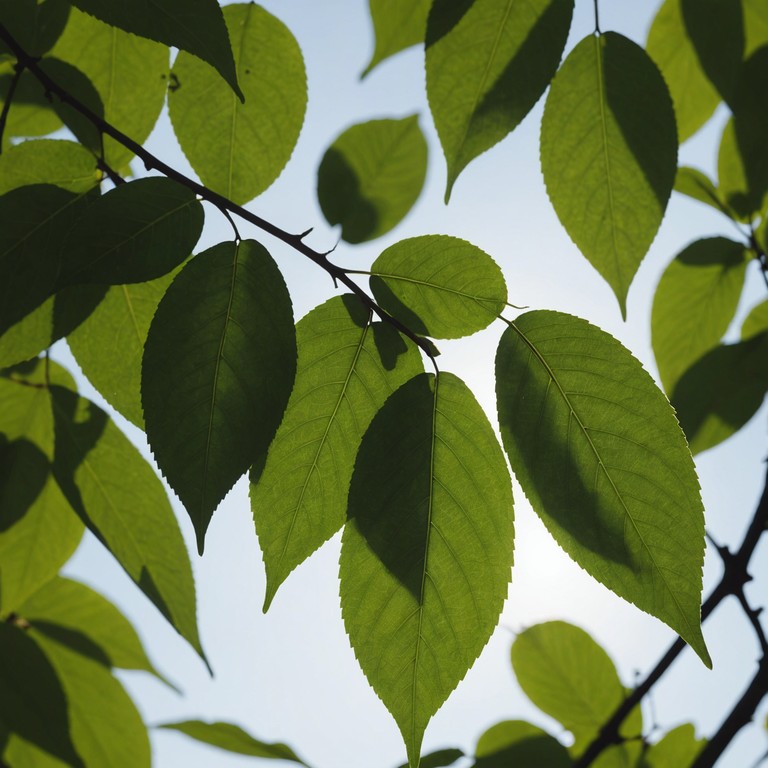
[{"label": "blurred oval light-green leaf above the lower right branch, near bottom edge", "polygon": [[[515,638],[512,667],[526,696],[574,736],[580,755],[624,701],[626,691],[608,654],[583,630],[564,621],[536,624]],[[640,736],[640,708],[621,735]]]}]

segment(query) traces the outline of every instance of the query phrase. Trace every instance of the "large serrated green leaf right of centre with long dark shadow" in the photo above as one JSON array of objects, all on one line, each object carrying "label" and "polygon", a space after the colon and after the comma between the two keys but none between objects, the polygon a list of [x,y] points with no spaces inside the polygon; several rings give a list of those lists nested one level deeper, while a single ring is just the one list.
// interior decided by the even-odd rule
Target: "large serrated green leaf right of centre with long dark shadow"
[{"label": "large serrated green leaf right of centre with long dark shadow", "polygon": [[699,483],[674,411],[640,363],[585,320],[527,312],[499,342],[496,397],[512,470],[558,544],[711,666]]}]

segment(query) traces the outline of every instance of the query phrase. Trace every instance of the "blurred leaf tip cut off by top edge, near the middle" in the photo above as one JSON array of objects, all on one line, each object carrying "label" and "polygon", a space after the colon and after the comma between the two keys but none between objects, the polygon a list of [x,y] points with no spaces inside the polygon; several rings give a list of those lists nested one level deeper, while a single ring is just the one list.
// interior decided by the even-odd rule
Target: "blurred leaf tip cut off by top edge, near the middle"
[{"label": "blurred leaf tip cut off by top edge, near the middle", "polygon": [[424,42],[430,5],[431,0],[368,0],[376,47],[362,77],[384,59]]}]

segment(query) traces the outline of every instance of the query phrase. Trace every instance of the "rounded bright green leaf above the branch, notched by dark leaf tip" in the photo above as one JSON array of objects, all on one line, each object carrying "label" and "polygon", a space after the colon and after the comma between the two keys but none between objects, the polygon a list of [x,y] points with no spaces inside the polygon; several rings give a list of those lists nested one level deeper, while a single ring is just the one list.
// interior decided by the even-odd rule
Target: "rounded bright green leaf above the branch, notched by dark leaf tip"
[{"label": "rounded bright green leaf above the branch, notched by dark leaf tip", "polygon": [[168,94],[173,129],[202,182],[247,203],[280,175],[307,106],[301,49],[288,28],[258,5],[224,9],[240,100],[208,66],[181,52]]}]

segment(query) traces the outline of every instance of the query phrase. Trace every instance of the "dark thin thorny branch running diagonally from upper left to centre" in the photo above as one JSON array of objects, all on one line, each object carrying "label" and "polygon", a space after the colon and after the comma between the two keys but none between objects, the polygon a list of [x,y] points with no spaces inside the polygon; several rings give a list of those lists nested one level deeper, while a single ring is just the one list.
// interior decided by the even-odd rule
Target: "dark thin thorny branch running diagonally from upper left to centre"
[{"label": "dark thin thorny branch running diagonally from upper left to centre", "polygon": [[81,115],[83,115],[83,117],[85,117],[99,131],[101,131],[102,134],[111,136],[113,139],[115,139],[115,141],[122,144],[126,149],[131,150],[131,152],[133,152],[136,157],[140,158],[144,162],[144,167],[147,170],[159,171],[164,176],[168,177],[169,179],[173,179],[174,181],[182,184],[187,189],[194,192],[196,195],[199,195],[203,200],[207,200],[209,203],[212,203],[219,210],[227,210],[230,213],[239,216],[249,224],[253,224],[255,227],[258,227],[262,232],[266,232],[277,240],[280,240],[281,242],[290,246],[295,251],[298,251],[303,256],[306,256],[310,261],[313,261],[321,269],[324,269],[333,278],[334,284],[338,282],[348,288],[360,299],[360,301],[362,301],[362,303],[368,309],[372,310],[379,318],[381,318],[381,320],[389,323],[404,336],[407,336],[409,339],[411,339],[411,341],[419,346],[428,357],[433,359],[434,362],[436,350],[432,342],[428,339],[425,339],[423,336],[418,335],[406,325],[401,323],[397,318],[392,317],[392,315],[382,309],[382,307],[380,307],[365,292],[365,290],[361,288],[347,274],[344,269],[330,262],[326,254],[320,253],[306,245],[303,241],[306,233],[294,235],[290,232],[286,232],[275,224],[272,224],[272,222],[267,221],[266,219],[262,219],[260,216],[257,216],[255,213],[251,213],[240,205],[236,205],[228,198],[220,195],[218,192],[214,192],[212,189],[209,189],[194,179],[190,179],[188,176],[185,176],[175,168],[172,168],[167,163],[164,163],[158,157],[142,147],[141,144],[138,144],[129,136],[126,136],[124,133],[115,128],[111,123],[107,122],[92,112],[90,109],[88,109],[85,104],[74,98],[67,90],[61,88],[38,66],[37,59],[29,56],[23,50],[23,48],[21,48],[21,46],[16,42],[13,36],[2,24],[0,24],[0,40],[8,45],[14,56],[16,56],[17,60],[19,61],[19,64],[29,69],[29,71],[40,81],[40,83],[42,83],[42,85],[49,93],[56,95],[63,102],[76,109]]}]

